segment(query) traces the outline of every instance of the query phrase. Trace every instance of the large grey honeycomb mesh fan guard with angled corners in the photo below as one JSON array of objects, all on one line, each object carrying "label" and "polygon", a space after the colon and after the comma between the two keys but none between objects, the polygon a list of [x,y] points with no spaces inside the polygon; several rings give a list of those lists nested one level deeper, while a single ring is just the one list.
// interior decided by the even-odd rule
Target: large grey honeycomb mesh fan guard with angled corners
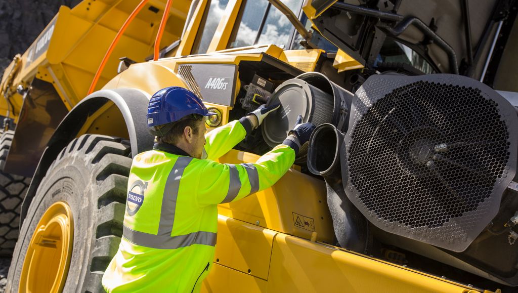
[{"label": "large grey honeycomb mesh fan guard with angled corners", "polygon": [[419,78],[378,77],[356,93],[346,192],[378,227],[462,251],[515,169],[509,115],[463,78]]}]

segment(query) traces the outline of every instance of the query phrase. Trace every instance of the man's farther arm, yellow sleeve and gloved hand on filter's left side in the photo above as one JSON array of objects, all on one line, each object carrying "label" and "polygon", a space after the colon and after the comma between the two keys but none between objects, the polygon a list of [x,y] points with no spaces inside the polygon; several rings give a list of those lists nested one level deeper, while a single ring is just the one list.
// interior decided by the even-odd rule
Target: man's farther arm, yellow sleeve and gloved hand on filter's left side
[{"label": "man's farther arm, yellow sleeve and gloved hand on filter's left side", "polygon": [[229,150],[241,142],[253,129],[263,122],[264,118],[279,108],[279,105],[261,105],[246,117],[238,121],[232,121],[226,125],[212,130],[205,135],[207,144],[204,148],[202,159],[217,160]]}]

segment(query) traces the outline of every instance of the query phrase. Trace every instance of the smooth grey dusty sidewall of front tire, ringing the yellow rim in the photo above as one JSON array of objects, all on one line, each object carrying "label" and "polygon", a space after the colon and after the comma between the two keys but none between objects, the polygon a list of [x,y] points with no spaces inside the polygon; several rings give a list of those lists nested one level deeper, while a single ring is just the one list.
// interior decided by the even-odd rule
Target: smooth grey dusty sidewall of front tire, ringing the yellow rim
[{"label": "smooth grey dusty sidewall of front tire, ringing the yellow rim", "polygon": [[[80,291],[88,269],[89,255],[93,246],[97,198],[94,193],[96,180],[91,156],[82,152],[69,152],[50,168],[50,174],[42,180],[23,222],[15,257],[11,261],[7,291],[17,291],[27,247],[36,230],[38,221],[55,202],[66,202],[72,211],[74,221],[74,244],[70,263],[81,270],[68,270],[64,292]],[[83,191],[78,194],[78,191]]]}]

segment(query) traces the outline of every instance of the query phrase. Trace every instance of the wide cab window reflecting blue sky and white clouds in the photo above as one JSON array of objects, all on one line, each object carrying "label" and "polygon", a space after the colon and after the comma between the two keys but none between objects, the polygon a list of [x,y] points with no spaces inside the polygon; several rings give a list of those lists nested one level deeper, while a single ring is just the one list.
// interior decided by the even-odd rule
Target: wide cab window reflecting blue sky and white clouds
[{"label": "wide cab window reflecting blue sky and white clouds", "polygon": [[[302,0],[283,0],[295,15],[300,13]],[[266,0],[243,1],[227,48],[257,44],[287,47],[295,27],[285,15]]]}]

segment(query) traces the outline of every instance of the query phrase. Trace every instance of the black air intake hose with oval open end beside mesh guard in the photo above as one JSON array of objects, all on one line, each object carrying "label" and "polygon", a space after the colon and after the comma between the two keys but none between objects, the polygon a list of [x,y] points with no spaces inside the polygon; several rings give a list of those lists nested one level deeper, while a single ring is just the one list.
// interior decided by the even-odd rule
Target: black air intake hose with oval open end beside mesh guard
[{"label": "black air intake hose with oval open end beside mesh guard", "polygon": [[327,205],[341,247],[357,253],[366,253],[369,227],[365,217],[357,210],[343,190],[340,170],[340,146],[344,134],[333,124],[321,124],[309,139],[308,170],[324,177],[327,188]]}]

